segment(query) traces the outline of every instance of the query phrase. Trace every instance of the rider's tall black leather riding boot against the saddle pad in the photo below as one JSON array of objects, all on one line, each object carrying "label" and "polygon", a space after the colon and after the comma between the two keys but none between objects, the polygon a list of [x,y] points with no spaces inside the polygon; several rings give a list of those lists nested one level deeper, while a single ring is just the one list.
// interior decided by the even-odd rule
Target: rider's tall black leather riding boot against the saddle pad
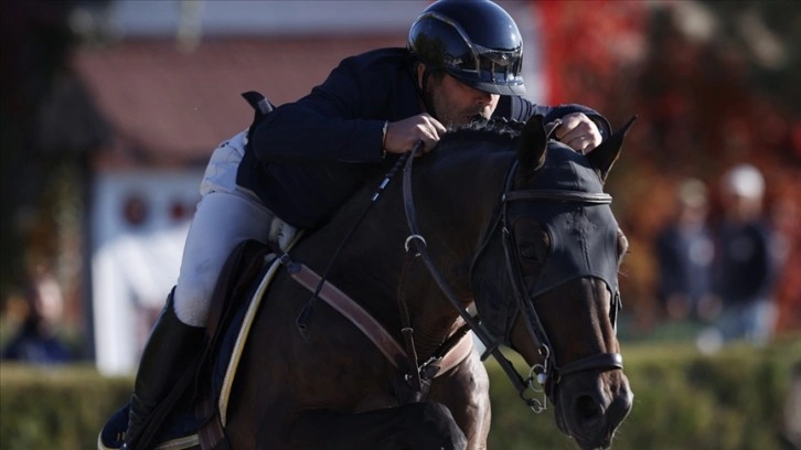
[{"label": "rider's tall black leather riding boot against the saddle pad", "polygon": [[172,296],[171,292],[139,361],[125,449],[140,450],[137,444],[150,415],[202,351],[205,329],[181,322],[175,315]]}]

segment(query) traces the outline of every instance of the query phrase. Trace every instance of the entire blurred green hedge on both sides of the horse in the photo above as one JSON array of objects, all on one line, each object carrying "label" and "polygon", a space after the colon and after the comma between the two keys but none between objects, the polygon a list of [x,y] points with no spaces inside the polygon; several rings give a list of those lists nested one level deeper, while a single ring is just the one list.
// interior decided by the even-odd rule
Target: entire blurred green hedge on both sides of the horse
[{"label": "entire blurred green hedge on both sides of the horse", "polygon": [[[790,367],[801,340],[768,349],[730,346],[715,356],[671,344],[623,345],[634,407],[615,449],[782,449]],[[575,449],[553,410],[535,415],[505,375],[492,382],[490,449]],[[105,378],[92,366],[0,365],[0,448],[93,449],[105,419],[128,397],[130,378]]]}]

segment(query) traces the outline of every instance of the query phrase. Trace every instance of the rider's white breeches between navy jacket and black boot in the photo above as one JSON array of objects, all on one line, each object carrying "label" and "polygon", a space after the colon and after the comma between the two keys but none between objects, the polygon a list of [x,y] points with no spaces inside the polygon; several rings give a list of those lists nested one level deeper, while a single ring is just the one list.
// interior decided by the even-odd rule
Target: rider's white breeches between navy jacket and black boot
[{"label": "rider's white breeches between navy jacket and black boot", "polygon": [[244,132],[221,143],[203,175],[202,197],[186,235],[174,291],[175,314],[189,325],[206,325],[217,277],[239,243],[271,239],[286,248],[296,233],[253,193],[236,185],[244,143]]}]

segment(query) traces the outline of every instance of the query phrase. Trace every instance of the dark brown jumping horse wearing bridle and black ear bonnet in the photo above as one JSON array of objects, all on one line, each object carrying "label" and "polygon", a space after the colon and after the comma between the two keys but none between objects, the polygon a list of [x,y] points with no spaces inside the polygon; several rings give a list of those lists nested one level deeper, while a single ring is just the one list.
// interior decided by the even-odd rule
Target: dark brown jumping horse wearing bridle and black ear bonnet
[{"label": "dark brown jumping horse wearing bridle and black ear bonnet", "polygon": [[260,304],[204,448],[484,449],[489,355],[578,447],[608,448],[633,395],[615,323],[627,242],[604,181],[630,125],[585,156],[540,116],[476,122],[387,161],[275,265],[241,246],[218,292]]}]

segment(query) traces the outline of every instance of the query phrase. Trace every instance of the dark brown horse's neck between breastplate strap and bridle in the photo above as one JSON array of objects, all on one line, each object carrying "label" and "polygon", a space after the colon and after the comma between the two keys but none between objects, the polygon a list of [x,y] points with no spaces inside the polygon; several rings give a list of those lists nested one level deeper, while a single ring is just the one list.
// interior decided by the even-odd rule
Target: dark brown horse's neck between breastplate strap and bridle
[{"label": "dark brown horse's neck between breastplate strap and bridle", "polygon": [[[440,157],[415,162],[419,168],[413,168],[414,205],[420,232],[437,270],[467,307],[472,301],[472,255],[500,199],[511,159],[459,158],[449,163]],[[303,243],[302,258],[311,260],[302,261],[323,270],[367,207],[373,184],[367,183],[324,228]],[[418,351],[427,356],[461,320],[420,258],[406,254],[404,244],[410,231],[404,203],[402,179],[397,176],[337,255],[329,279],[397,336],[405,326],[398,299],[405,302]]]}]

